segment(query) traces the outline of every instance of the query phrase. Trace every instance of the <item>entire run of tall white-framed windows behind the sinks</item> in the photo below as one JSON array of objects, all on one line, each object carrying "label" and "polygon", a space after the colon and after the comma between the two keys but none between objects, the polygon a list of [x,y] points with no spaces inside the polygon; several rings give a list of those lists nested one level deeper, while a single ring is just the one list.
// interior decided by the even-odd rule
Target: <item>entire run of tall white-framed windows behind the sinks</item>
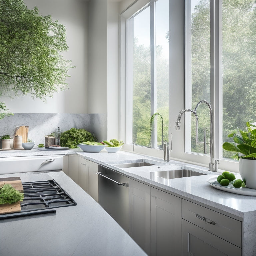
[{"label": "entire run of tall white-framed windows behind the sinks", "polygon": [[172,134],[171,158],[209,166],[207,104],[196,110],[197,141],[193,114],[186,112],[181,131],[175,130],[182,109],[194,110],[206,100],[214,113],[214,158],[220,159],[219,168],[238,170],[222,144],[232,130],[256,122],[256,0],[135,3],[141,1],[121,30],[126,31],[126,142],[160,148],[160,116],[150,133],[150,117],[157,112],[163,140],[168,141],[168,128],[169,138]]}]

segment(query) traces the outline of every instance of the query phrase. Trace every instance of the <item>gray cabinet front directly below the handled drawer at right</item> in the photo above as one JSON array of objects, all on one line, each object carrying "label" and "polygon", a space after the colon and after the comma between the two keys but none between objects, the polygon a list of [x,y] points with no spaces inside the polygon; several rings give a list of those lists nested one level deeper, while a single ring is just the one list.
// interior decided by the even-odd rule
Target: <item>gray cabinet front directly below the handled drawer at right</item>
[{"label": "gray cabinet front directly below the handled drawer at right", "polygon": [[182,220],[182,255],[241,256],[241,248]]}]

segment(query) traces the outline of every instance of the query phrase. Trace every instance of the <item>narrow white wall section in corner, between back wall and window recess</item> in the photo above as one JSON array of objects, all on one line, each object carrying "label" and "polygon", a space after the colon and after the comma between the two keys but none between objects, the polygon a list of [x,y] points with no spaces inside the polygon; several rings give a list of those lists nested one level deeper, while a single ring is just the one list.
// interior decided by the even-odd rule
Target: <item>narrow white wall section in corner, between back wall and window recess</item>
[{"label": "narrow white wall section in corner, between back wall and window recess", "polygon": [[88,3],[88,112],[107,113],[107,0]]}]

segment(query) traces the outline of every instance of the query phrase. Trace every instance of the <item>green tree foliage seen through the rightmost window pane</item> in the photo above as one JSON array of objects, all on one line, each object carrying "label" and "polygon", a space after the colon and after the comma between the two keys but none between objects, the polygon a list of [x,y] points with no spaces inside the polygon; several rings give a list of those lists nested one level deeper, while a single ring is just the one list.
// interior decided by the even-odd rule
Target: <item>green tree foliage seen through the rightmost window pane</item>
[{"label": "green tree foliage seen through the rightmost window pane", "polygon": [[[256,1],[223,1],[223,141],[256,121]],[[225,153],[225,151],[223,152]]]}]

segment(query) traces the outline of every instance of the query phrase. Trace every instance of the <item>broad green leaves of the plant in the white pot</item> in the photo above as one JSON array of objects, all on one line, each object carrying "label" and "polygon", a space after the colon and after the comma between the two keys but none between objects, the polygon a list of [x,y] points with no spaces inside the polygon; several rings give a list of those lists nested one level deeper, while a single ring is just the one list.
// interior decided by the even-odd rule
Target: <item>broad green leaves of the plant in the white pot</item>
[{"label": "broad green leaves of the plant in the white pot", "polygon": [[249,122],[246,123],[247,129],[243,131],[239,128],[233,130],[228,137],[233,139],[233,142],[224,142],[222,147],[227,151],[236,152],[232,158],[256,160],[256,127]]}]

